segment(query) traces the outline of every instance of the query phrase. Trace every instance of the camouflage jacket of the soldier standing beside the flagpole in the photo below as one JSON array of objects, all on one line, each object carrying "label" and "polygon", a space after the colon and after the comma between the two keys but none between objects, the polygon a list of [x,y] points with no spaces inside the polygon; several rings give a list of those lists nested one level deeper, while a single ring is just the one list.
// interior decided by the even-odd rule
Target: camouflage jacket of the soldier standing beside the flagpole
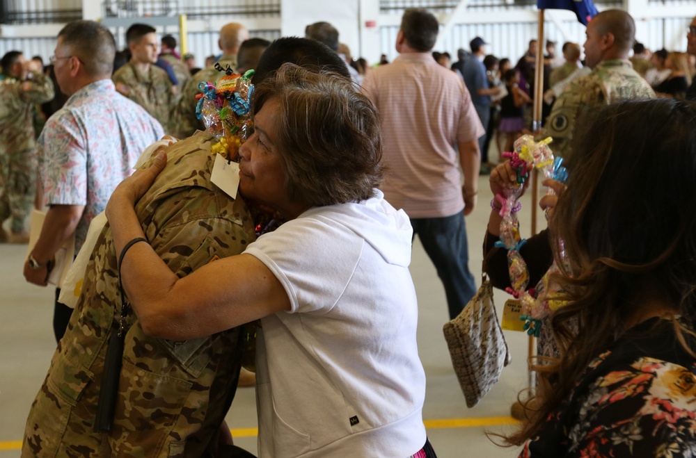
[{"label": "camouflage jacket of the soldier standing beside the flagpole", "polygon": [[635,72],[628,60],[605,60],[590,74],[575,79],[556,99],[548,115],[544,136],[553,137],[553,154],[570,156],[575,122],[589,106],[611,104],[621,99],[655,97],[650,85]]}]

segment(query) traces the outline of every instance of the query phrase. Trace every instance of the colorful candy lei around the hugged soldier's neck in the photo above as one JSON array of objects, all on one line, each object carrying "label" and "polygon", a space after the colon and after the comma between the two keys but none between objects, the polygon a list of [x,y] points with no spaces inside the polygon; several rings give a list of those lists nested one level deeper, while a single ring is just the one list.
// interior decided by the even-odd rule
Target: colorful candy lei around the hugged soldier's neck
[{"label": "colorful candy lei around the hugged soldier's neck", "polygon": [[224,69],[215,64],[219,72],[225,72],[215,84],[203,81],[198,85],[203,94],[196,96],[196,117],[203,120],[205,128],[219,142],[212,147],[212,154],[221,154],[228,161],[237,158],[239,147],[253,133],[251,121],[251,84],[253,70],[237,74],[230,67]]}]

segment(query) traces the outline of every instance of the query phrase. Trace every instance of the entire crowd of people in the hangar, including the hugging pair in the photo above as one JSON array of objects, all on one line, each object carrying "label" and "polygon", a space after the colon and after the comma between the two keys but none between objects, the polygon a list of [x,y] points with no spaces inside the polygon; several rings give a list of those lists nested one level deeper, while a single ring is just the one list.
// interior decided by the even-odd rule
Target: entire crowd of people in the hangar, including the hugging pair
[{"label": "entire crowd of people in the hangar, including the hugging pair", "polygon": [[[71,22],[49,72],[3,56],[0,238],[26,243],[29,212],[44,209],[26,280],[47,286],[72,237],[84,259],[76,292],[56,288],[58,345],[22,456],[248,457],[224,420],[244,366],[260,456],[435,457],[411,245],[417,234],[457,318],[477,290],[465,217],[478,175],[494,195],[519,189],[521,169],[488,152],[522,133],[551,136],[569,179],[544,181],[549,229],[516,249],[546,291],[535,299],[553,291],[561,305],[541,320],[539,383],[505,441],[521,457],[690,456],[696,17],[686,53],[650,54],[631,15],[605,10],[584,60],[579,44],[560,58],[546,42],[540,94],[536,40],[514,66],[480,37],[452,63],[433,51],[439,29],[407,9],[399,55],[374,67],[329,22],[274,42],[226,24],[198,72],[148,24],[117,51],[108,28]],[[205,97],[232,77],[214,92],[230,109],[205,122]],[[42,105],[56,92],[67,99]],[[232,117],[251,124],[223,141]],[[238,162],[232,190],[214,178],[221,151]],[[475,236],[509,289],[504,214],[493,199]]]}]

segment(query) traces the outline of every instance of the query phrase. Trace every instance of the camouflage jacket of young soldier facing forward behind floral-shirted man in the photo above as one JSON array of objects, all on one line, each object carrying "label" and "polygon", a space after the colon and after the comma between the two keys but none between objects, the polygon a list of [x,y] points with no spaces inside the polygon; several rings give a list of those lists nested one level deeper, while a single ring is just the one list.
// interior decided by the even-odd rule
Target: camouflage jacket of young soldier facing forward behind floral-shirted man
[{"label": "camouflage jacket of young soldier facing forward behind floral-shirted man", "polygon": [[148,74],[143,74],[131,60],[113,74],[116,89],[139,104],[164,127],[164,133],[171,133],[171,111],[174,107],[172,83],[167,72],[150,65]]}]

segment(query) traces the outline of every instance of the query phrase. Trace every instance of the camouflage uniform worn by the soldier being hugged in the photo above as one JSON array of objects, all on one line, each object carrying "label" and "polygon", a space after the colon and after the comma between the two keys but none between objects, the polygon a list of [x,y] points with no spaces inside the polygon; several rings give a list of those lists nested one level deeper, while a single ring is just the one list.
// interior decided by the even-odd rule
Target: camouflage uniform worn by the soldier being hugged
[{"label": "camouflage uniform worn by the soldier being hugged", "polygon": [[[244,201],[210,182],[211,144],[212,136],[200,132],[169,147],[165,170],[136,204],[145,237],[179,277],[255,240]],[[104,355],[120,318],[116,258],[106,224],[31,406],[22,457],[209,456],[237,386],[240,328],[166,341],[145,336],[131,311],[113,427],[106,436],[93,432]]]}]

